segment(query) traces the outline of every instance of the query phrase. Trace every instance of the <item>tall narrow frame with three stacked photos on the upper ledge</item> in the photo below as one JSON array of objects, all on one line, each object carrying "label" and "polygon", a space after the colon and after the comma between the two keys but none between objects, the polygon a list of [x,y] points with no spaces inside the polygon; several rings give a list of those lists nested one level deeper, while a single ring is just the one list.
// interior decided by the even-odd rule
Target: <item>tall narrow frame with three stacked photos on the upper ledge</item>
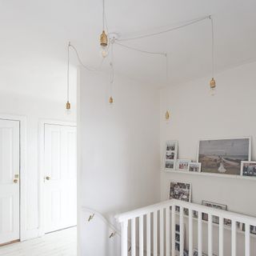
[{"label": "tall narrow frame with three stacked photos on the upper ledge", "polygon": [[165,170],[175,170],[178,158],[178,141],[167,141],[165,146]]}]

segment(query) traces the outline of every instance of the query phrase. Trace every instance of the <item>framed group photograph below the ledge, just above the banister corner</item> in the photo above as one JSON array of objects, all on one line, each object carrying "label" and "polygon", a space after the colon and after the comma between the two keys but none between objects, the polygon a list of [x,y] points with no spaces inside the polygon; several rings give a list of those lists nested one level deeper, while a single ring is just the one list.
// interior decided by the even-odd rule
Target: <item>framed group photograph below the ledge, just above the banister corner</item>
[{"label": "framed group photograph below the ledge, just above the banister corner", "polygon": [[191,184],[170,181],[169,199],[191,202]]}]

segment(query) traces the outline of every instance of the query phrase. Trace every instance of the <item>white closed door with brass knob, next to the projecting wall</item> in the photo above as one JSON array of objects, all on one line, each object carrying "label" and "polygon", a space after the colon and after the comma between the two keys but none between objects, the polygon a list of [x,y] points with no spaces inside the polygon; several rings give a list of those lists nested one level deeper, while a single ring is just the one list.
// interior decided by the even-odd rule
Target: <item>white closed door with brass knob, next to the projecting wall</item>
[{"label": "white closed door with brass knob, next to the projecting wall", "polygon": [[45,232],[77,225],[76,127],[45,125]]}]

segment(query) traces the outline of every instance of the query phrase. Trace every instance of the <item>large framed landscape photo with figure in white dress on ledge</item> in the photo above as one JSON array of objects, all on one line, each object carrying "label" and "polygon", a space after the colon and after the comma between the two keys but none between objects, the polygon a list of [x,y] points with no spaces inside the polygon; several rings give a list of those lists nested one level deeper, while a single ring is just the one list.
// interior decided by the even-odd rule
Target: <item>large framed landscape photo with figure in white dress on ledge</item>
[{"label": "large framed landscape photo with figure in white dress on ledge", "polygon": [[241,162],[250,161],[251,138],[224,138],[199,141],[198,162],[202,172],[240,175]]}]

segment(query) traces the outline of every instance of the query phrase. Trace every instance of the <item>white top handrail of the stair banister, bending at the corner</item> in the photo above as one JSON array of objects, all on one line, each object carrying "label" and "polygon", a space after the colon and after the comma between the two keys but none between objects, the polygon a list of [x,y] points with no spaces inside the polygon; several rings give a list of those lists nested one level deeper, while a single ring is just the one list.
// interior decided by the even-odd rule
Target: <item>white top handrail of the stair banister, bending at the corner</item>
[{"label": "white top handrail of the stair banister, bending at the corner", "polygon": [[192,202],[184,202],[177,199],[170,199],[164,202],[158,202],[157,204],[142,207],[136,210],[131,210],[126,213],[118,214],[115,218],[118,222],[124,222],[131,218],[137,218],[139,216],[148,214],[150,212],[154,212],[156,210],[161,210],[162,208],[170,207],[170,206],[182,206],[184,208],[196,210],[202,213],[211,214],[214,216],[222,216],[222,218],[233,219],[237,222],[247,223],[252,226],[256,226],[256,218],[245,215],[245,214],[238,214],[227,210],[219,210],[215,208],[210,208],[209,206],[202,206],[199,204],[195,204]]}]

